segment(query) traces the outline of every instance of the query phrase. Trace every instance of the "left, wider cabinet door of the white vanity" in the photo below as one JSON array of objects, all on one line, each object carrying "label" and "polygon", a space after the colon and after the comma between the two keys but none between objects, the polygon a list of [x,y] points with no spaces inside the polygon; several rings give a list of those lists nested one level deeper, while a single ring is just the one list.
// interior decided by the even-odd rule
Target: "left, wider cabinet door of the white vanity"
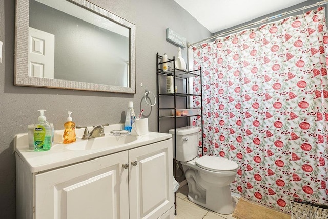
[{"label": "left, wider cabinet door of the white vanity", "polygon": [[35,176],[35,218],[129,218],[128,152]]}]

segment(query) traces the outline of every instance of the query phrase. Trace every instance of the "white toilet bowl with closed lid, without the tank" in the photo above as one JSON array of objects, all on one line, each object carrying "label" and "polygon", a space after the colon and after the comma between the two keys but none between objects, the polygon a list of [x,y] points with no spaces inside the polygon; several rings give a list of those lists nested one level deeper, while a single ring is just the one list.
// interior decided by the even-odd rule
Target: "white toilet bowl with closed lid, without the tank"
[{"label": "white toilet bowl with closed lid, without the tank", "polygon": [[[208,160],[217,164],[217,168],[209,168]],[[237,163],[222,157],[202,156],[181,164],[185,170],[190,201],[220,214],[234,211],[229,184],[236,177]],[[224,168],[220,168],[222,166]]]}]

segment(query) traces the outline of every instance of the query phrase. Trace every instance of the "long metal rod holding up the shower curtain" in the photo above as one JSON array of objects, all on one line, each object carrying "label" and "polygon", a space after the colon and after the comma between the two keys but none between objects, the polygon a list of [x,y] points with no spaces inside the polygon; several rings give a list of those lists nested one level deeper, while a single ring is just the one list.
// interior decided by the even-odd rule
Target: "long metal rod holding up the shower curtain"
[{"label": "long metal rod holding up the shower curtain", "polygon": [[268,21],[270,21],[271,19],[275,19],[275,18],[278,18],[278,17],[281,17],[281,16],[286,16],[286,15],[288,15],[288,14],[292,14],[292,13],[295,13],[295,12],[298,12],[298,11],[301,11],[301,10],[303,10],[303,13],[304,13],[304,10],[305,10],[305,9],[312,8],[312,7],[315,7],[315,6],[320,6],[320,5],[323,5],[324,3],[327,3],[327,2],[328,2],[328,0],[324,0],[324,1],[317,2],[317,3],[312,4],[312,5],[304,6],[304,7],[302,7],[302,8],[294,9],[294,10],[292,10],[292,11],[288,11],[288,12],[286,11],[286,12],[284,12],[284,13],[281,13],[281,14],[278,14],[278,15],[275,15],[275,16],[272,16],[272,17],[269,17],[269,18],[267,17],[267,18],[265,18],[265,19],[262,19],[261,21],[257,21],[257,22],[254,22],[254,23],[250,23],[250,24],[247,24],[247,25],[243,25],[243,26],[238,27],[238,28],[235,28],[235,29],[233,29],[233,30],[229,30],[229,31],[227,31],[227,32],[222,32],[222,33],[216,34],[216,35],[211,36],[211,37],[209,37],[209,38],[202,39],[201,41],[198,41],[198,42],[196,42],[196,43],[192,43],[192,44],[188,43],[188,48],[191,48],[192,46],[195,46],[195,45],[197,45],[197,44],[201,44],[201,43],[203,43],[203,42],[207,42],[207,41],[209,41],[210,39],[217,38],[217,37],[219,37],[219,36],[221,36],[221,35],[224,35],[224,34],[228,34],[228,33],[232,33],[232,32],[237,32],[237,31],[239,31],[239,30],[245,29],[245,28],[247,28],[247,27],[251,27],[251,26],[253,26],[253,25],[258,25],[258,24],[261,24],[261,23],[264,23],[264,22],[268,22]]}]

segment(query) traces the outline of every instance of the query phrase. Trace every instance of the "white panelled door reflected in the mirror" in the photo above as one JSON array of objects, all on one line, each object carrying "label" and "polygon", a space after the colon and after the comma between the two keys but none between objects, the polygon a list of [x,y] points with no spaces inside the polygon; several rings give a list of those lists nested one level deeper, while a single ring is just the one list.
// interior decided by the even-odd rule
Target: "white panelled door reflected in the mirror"
[{"label": "white panelled door reflected in the mirror", "polygon": [[29,27],[29,76],[53,79],[54,60],[55,35]]}]

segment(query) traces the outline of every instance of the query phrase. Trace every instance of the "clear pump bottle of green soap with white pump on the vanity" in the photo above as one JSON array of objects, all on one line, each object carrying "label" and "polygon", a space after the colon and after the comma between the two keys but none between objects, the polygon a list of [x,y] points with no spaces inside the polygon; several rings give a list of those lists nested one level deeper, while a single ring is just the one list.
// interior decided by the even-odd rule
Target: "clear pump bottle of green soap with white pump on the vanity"
[{"label": "clear pump bottle of green soap with white pump on the vanity", "polygon": [[40,116],[34,124],[34,151],[47,151],[51,147],[52,129],[50,123],[47,122],[44,111],[40,111]]}]

